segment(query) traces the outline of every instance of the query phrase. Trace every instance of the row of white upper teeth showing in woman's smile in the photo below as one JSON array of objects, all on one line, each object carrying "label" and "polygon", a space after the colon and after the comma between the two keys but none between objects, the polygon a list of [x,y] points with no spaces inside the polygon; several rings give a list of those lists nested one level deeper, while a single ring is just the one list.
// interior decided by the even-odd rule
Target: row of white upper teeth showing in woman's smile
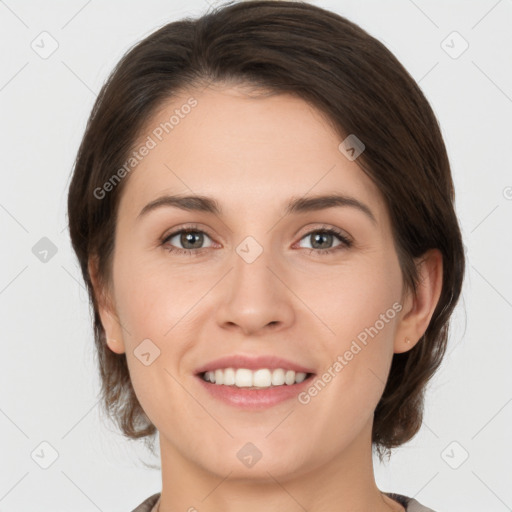
[{"label": "row of white upper teeth showing in woman's smile", "polygon": [[292,385],[302,382],[306,378],[306,373],[293,370],[283,370],[276,368],[269,370],[248,370],[247,368],[226,368],[215,371],[205,372],[204,380],[215,384],[224,384],[225,386],[237,386],[239,388],[267,388],[272,386],[282,386],[283,384]]}]

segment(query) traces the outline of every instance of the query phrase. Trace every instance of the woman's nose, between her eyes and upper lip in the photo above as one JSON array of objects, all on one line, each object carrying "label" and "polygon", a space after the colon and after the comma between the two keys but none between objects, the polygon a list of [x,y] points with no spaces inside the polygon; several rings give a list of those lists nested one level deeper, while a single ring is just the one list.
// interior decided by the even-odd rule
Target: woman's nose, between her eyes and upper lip
[{"label": "woman's nose, between her eyes and upper lip", "polygon": [[285,274],[269,250],[252,262],[235,252],[233,268],[219,290],[218,325],[246,336],[289,327],[294,321],[294,294]]}]

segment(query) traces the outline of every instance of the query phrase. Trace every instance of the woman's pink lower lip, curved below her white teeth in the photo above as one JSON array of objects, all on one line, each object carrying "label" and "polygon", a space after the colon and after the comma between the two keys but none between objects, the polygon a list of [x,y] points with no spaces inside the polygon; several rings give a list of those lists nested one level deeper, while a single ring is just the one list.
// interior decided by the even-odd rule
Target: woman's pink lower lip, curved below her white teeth
[{"label": "woman's pink lower lip, curved below her white teeth", "polygon": [[265,409],[273,405],[290,400],[309,386],[312,374],[307,379],[298,384],[283,384],[262,389],[237,388],[236,386],[224,386],[222,384],[213,384],[205,381],[201,376],[196,375],[204,389],[214,398],[243,409]]}]

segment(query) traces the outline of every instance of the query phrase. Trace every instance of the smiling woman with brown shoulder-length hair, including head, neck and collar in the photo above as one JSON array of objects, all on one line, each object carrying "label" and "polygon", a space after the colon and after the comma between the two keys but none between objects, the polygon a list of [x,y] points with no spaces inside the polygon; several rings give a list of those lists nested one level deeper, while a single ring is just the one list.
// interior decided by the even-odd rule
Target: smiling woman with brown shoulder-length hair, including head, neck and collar
[{"label": "smiling woman with brown shoulder-length hair, including head, neck and collar", "polygon": [[[99,94],[69,189],[105,410],[159,434],[136,512],[431,509],[381,492],[464,274],[414,80],[292,1],[170,23]],[[134,512],[135,512],[134,511]]]}]

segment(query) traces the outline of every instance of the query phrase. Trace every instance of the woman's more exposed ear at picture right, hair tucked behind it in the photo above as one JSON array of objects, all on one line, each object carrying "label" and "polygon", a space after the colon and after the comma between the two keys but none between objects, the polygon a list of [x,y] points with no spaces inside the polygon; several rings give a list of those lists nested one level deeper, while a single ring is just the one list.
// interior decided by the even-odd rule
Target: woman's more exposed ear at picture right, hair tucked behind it
[{"label": "woman's more exposed ear at picture right, hair tucked behind it", "polygon": [[443,256],[439,249],[430,249],[418,258],[419,283],[402,301],[404,308],[396,331],[394,353],[407,352],[421,339],[430,323],[443,286]]}]

